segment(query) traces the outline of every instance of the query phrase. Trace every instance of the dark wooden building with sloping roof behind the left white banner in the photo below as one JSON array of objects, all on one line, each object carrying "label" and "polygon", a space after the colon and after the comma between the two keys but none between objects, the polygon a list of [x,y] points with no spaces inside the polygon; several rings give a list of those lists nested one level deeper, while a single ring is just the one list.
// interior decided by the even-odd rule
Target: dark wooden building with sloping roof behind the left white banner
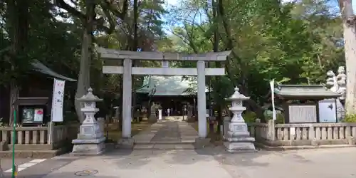
[{"label": "dark wooden building with sloping roof behind the left white banner", "polygon": [[[47,119],[51,115],[51,98],[53,95],[53,78],[66,80],[70,82],[76,81],[73,78],[60,75],[38,61],[32,63],[33,70],[28,73],[28,80],[21,83],[19,90],[19,98],[48,98],[46,105]],[[67,84],[68,85],[68,84]],[[0,118],[2,122],[9,122],[10,107],[10,88],[8,85],[0,85]]]}]

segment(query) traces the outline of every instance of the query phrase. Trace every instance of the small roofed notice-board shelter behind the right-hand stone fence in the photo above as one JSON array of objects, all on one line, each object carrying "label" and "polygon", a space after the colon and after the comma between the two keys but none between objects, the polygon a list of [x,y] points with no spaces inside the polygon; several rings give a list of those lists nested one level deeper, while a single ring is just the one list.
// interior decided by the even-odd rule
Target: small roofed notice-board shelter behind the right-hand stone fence
[{"label": "small roofed notice-board shelter behind the right-hand stone fence", "polygon": [[[323,85],[277,85],[276,103],[281,103],[286,123],[320,122],[319,101],[337,99],[340,94]],[[336,115],[336,106],[330,106]]]}]

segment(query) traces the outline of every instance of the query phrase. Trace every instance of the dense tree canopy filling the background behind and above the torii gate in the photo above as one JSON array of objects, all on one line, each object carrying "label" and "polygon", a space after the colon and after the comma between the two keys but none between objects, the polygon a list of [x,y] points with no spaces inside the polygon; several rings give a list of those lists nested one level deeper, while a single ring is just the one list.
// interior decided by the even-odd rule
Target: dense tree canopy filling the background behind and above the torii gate
[{"label": "dense tree canopy filling the background behind and above the torii gate", "polygon": [[[226,68],[226,75],[209,78],[208,99],[224,103],[232,88],[239,86],[241,93],[251,96],[248,109],[261,115],[271,79],[320,84],[328,70],[345,66],[338,11],[337,3],[328,0],[179,0],[174,6],[162,0],[5,0],[0,2],[0,84],[21,87],[31,62],[37,60],[78,78],[77,88],[67,93],[72,101],[92,86],[110,110],[120,105],[121,76],[101,73],[103,61],[95,47],[186,53],[231,50],[226,63],[209,63]],[[140,88],[142,81],[135,77],[134,88]],[[75,108],[78,112],[80,105]]]}]

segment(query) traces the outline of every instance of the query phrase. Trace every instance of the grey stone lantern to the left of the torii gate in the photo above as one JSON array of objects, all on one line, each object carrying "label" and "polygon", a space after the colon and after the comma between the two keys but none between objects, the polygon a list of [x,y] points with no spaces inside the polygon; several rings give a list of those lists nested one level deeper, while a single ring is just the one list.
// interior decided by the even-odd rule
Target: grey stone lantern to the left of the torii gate
[{"label": "grey stone lantern to the left of the torii gate", "polygon": [[93,89],[89,88],[88,93],[77,100],[84,105],[80,110],[85,115],[85,120],[80,125],[78,138],[72,141],[72,154],[99,155],[105,150],[105,137],[94,115],[99,111],[96,108],[96,102],[103,101],[103,99],[93,95]]}]

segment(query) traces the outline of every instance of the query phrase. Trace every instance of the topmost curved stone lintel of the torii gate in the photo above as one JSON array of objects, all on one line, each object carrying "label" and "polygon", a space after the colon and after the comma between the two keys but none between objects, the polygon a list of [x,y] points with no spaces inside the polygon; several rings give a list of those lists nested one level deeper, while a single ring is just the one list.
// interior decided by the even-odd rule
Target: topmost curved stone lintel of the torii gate
[{"label": "topmost curved stone lintel of the torii gate", "polygon": [[155,51],[120,51],[116,49],[97,48],[101,58],[137,59],[147,61],[226,61],[231,51],[209,52],[200,54],[163,53]]}]

